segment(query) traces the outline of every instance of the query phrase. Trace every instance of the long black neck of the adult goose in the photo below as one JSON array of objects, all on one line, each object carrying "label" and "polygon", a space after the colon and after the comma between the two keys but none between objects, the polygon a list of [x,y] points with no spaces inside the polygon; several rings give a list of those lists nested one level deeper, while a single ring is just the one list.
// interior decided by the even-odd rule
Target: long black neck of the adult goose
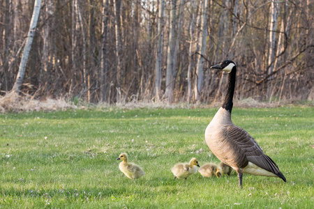
[{"label": "long black neck of the adult goose", "polygon": [[223,102],[222,107],[227,111],[232,111],[233,107],[233,95],[234,95],[234,88],[235,88],[235,81],[237,75],[237,67],[234,66],[231,72],[228,75],[228,88],[227,88],[227,95],[225,95],[225,101]]}]

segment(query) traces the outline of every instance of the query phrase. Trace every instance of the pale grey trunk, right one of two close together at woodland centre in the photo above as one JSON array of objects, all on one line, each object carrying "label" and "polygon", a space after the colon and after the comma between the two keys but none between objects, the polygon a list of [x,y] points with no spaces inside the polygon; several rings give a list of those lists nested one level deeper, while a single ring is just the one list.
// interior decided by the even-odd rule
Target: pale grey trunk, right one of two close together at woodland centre
[{"label": "pale grey trunk, right one of two close together at woodland centre", "polygon": [[167,72],[166,72],[166,86],[165,86],[165,99],[171,103],[173,100],[173,59],[174,59],[174,33],[176,29],[176,8],[177,0],[171,1],[170,8],[170,29],[169,29],[169,41],[167,49]]}]

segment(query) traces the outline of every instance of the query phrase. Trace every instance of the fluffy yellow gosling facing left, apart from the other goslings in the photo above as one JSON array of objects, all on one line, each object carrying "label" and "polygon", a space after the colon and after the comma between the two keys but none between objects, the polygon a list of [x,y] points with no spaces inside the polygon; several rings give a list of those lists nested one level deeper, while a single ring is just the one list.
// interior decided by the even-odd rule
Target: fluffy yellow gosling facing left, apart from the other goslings
[{"label": "fluffy yellow gosling facing left, apart from the other goslings", "polygon": [[117,160],[122,160],[119,164],[119,169],[130,179],[140,178],[144,176],[145,172],[137,164],[128,162],[128,155],[121,153]]}]

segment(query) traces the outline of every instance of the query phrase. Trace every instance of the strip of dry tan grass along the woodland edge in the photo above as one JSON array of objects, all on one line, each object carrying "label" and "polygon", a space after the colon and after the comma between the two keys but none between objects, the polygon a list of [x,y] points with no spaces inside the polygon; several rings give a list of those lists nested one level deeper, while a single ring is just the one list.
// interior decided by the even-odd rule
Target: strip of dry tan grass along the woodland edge
[{"label": "strip of dry tan grass along the woodland edge", "polygon": [[[160,102],[123,102],[116,104],[98,103],[89,104],[83,100],[79,100],[78,104],[73,104],[72,101],[66,98],[46,98],[45,100],[35,99],[34,96],[23,93],[17,95],[14,92],[0,96],[0,113],[15,111],[57,111],[66,109],[103,109],[103,108],[117,108],[117,109],[204,109],[216,107],[219,108],[222,102],[213,102],[211,104],[196,103],[172,103],[166,101]],[[289,104],[301,104],[299,101],[283,100],[281,102],[260,102],[253,98],[246,98],[244,100],[234,100],[234,107],[242,108],[269,108],[269,107],[282,107]],[[308,101],[306,106],[313,106],[314,101]]]}]

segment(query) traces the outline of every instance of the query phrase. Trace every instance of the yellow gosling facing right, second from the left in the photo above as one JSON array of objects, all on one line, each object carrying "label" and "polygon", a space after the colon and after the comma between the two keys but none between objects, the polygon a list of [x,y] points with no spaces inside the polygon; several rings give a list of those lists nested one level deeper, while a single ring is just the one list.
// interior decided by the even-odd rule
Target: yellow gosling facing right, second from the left
[{"label": "yellow gosling facing right, second from the left", "polygon": [[174,178],[188,178],[188,176],[197,172],[197,167],[200,167],[195,157],[189,163],[175,164],[171,169]]}]

